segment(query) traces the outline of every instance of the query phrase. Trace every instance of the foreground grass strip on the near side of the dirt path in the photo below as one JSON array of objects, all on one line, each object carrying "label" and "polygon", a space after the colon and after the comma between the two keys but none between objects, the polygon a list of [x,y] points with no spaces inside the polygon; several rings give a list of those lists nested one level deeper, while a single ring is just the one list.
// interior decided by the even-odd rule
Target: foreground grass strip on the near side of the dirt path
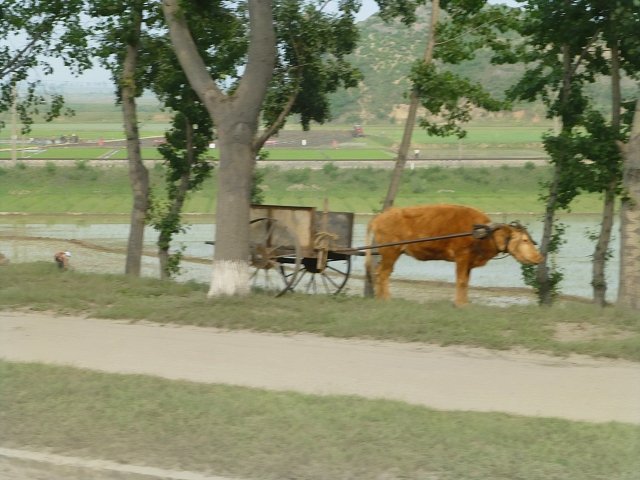
[{"label": "foreground grass strip on the near side of the dirt path", "polygon": [[244,478],[632,480],[640,427],[0,362],[0,442]]}]

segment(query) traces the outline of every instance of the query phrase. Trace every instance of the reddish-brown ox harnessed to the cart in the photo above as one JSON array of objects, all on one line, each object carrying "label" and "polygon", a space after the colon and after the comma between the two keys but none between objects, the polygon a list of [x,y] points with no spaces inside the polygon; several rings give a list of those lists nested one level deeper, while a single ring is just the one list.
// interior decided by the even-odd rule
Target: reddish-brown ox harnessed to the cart
[{"label": "reddish-brown ox harnessed to the cart", "polygon": [[[542,255],[527,230],[519,224],[492,224],[487,215],[460,205],[419,205],[391,208],[369,224],[369,244],[401,243],[428,237],[471,233],[476,225],[489,226],[484,238],[464,236],[419,243],[379,247],[375,290],[378,298],[389,298],[389,276],[401,254],[418,260],[446,260],[456,263],[455,304],[468,302],[471,269],[485,265],[499,253],[508,253],[524,264],[542,261]],[[367,271],[371,274],[371,254],[367,251]]]}]

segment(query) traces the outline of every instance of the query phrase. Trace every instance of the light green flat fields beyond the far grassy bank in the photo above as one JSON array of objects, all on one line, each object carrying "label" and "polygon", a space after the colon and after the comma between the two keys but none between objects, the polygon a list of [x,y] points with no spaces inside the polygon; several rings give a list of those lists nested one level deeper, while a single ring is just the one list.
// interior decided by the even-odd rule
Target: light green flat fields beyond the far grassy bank
[{"label": "light green flat fields beyond the far grassy bank", "polygon": [[[103,107],[108,110],[107,106]],[[122,140],[122,123],[114,121],[113,113],[110,111],[109,114],[100,117],[96,112],[90,114],[83,111],[77,117],[58,119],[51,123],[35,123],[31,131],[21,137],[21,142],[24,147],[30,147],[29,139],[36,139],[42,143],[57,141],[62,135],[68,137],[72,134],[77,135],[81,141]],[[83,118],[87,121],[83,122]],[[102,118],[102,121],[98,121],[99,118]],[[158,121],[158,118],[163,118],[163,121]],[[154,114],[150,111],[142,116],[140,135],[162,137],[168,127],[166,114]],[[548,122],[508,124],[498,120],[475,121],[468,125],[468,134],[463,139],[430,137],[424,131],[416,129],[410,153],[419,149],[423,158],[546,156],[541,139],[551,127]],[[315,125],[309,132],[302,132],[299,127],[292,125],[281,131],[278,146],[267,145],[265,151],[268,152],[269,158],[274,160],[394,158],[403,133],[402,125],[365,125],[365,132],[365,137],[352,138],[351,125]],[[9,138],[8,127],[0,130],[0,141],[5,142],[4,148],[0,148],[0,159],[10,158]],[[308,140],[306,148],[301,148],[303,139]],[[53,153],[55,148],[47,150],[49,153],[38,154],[39,157],[60,158]],[[147,150],[146,158],[156,158],[157,154],[151,150]],[[75,158],[98,158],[98,155],[90,156],[79,152]],[[123,153],[115,158],[126,157]]]}]

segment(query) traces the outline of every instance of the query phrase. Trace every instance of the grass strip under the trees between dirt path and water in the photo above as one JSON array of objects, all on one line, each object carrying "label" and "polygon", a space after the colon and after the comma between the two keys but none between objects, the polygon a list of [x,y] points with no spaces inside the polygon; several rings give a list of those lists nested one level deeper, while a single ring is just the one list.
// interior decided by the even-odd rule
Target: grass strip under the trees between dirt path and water
[{"label": "grass strip under the trees between dirt path and water", "polygon": [[[61,273],[53,262],[0,268],[0,308],[4,309],[52,310],[261,332],[309,332],[340,338],[491,349],[520,347],[557,355],[581,353],[640,361],[637,313],[578,302],[561,302],[553,308],[471,305],[454,309],[449,302],[425,306],[399,299],[377,302],[303,294],[209,300],[206,287],[196,283]],[[597,338],[561,341],[554,337],[559,323],[594,326],[604,333]]]}]

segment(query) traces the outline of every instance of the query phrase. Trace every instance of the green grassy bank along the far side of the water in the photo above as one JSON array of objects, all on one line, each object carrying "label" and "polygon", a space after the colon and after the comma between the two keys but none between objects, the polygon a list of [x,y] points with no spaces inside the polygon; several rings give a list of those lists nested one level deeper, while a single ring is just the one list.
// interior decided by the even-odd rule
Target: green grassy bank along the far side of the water
[{"label": "green grassy bank along the far side of the water", "polygon": [[[374,168],[321,170],[263,169],[264,203],[321,207],[328,198],[335,211],[370,213],[380,208],[391,171]],[[532,164],[497,168],[416,168],[408,170],[396,204],[459,203],[488,212],[541,212],[541,182],[550,170]],[[152,184],[163,188],[163,168],[151,169]],[[186,213],[212,213],[216,203],[216,172],[187,202]],[[123,214],[131,210],[126,167],[96,168],[84,162],[72,167],[19,164],[0,167],[0,211],[30,214],[68,212]],[[574,213],[601,211],[598,195],[582,195]]]}]

